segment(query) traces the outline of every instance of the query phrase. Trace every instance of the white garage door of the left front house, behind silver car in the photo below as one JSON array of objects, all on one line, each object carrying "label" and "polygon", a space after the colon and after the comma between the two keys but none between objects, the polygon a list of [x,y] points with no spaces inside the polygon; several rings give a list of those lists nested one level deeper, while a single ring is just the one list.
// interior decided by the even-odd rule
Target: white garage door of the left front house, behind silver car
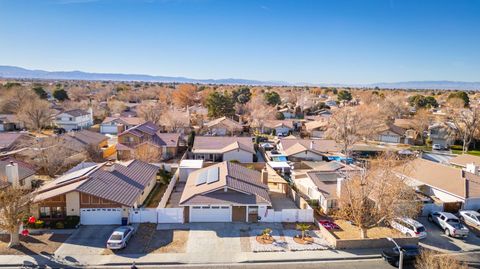
[{"label": "white garage door of the left front house, behind silver car", "polygon": [[122,210],[120,208],[82,208],[80,223],[82,225],[120,225]]}]

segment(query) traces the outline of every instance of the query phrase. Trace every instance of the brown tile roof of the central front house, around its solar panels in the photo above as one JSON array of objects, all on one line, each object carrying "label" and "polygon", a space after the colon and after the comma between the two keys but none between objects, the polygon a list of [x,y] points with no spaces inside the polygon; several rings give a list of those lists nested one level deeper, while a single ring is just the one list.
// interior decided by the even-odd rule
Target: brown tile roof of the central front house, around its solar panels
[{"label": "brown tile roof of the central front house, around its solar panels", "polygon": [[[218,180],[198,184],[199,178],[212,169],[218,169]],[[188,176],[180,205],[212,203],[271,205],[268,186],[262,183],[261,173],[232,162],[202,168]]]}]

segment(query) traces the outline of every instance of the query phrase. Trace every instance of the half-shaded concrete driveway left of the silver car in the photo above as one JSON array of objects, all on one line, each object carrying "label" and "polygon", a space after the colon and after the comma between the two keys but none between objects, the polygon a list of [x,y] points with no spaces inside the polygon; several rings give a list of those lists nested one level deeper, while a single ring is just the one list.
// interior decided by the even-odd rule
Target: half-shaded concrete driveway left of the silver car
[{"label": "half-shaded concrete driveway left of the silver car", "polygon": [[81,226],[55,251],[55,255],[65,258],[72,255],[102,254],[108,237],[116,227],[118,226]]}]

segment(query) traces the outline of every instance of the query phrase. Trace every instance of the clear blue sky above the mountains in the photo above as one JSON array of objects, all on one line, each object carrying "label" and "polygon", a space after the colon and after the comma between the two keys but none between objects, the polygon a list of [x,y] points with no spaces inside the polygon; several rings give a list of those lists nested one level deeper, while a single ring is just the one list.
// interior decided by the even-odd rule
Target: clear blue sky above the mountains
[{"label": "clear blue sky above the mountains", "polygon": [[311,83],[480,81],[478,0],[0,0],[0,65]]}]

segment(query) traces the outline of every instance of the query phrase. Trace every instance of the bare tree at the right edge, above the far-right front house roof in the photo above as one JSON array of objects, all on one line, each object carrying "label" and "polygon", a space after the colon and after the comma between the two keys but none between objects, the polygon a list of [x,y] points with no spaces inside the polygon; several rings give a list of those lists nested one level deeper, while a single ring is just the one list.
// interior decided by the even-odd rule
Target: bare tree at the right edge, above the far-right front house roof
[{"label": "bare tree at the right edge, above the far-right front house roof", "polygon": [[450,120],[454,124],[453,133],[462,140],[462,152],[468,151],[468,146],[480,129],[480,108],[451,109]]}]

